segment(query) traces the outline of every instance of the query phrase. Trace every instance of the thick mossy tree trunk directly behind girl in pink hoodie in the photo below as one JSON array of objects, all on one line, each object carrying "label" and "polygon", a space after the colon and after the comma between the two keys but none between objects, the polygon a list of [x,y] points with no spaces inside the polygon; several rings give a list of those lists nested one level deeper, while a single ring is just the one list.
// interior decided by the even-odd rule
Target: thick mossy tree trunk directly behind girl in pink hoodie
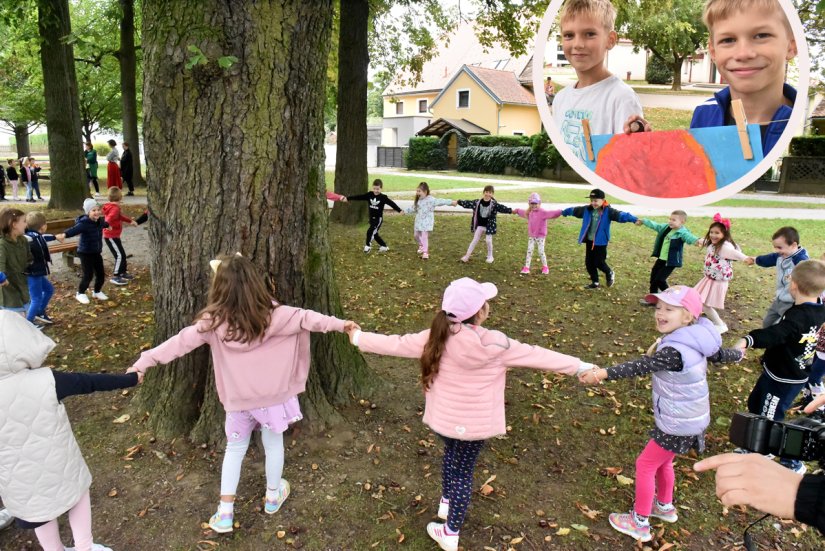
[{"label": "thick mossy tree trunk directly behind girl in pink hoodie", "polygon": [[[143,13],[156,341],[204,306],[219,253],[252,258],[283,303],[341,316],[323,198],[331,2],[145,0]],[[208,63],[185,68],[190,45]],[[227,56],[238,61],[222,69]],[[313,335],[307,417],[334,418],[369,385],[345,336]],[[207,350],[151,370],[144,388],[159,434],[222,438]]]}]

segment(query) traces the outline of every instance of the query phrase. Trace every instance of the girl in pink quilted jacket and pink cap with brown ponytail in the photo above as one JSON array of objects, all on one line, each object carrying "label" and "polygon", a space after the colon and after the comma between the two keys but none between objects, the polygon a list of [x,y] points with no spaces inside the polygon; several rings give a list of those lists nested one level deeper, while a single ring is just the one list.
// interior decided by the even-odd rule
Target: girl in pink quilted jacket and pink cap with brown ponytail
[{"label": "girl in pink quilted jacket and pink cap with brown ponytail", "polygon": [[442,549],[458,549],[470,503],[473,470],[484,441],[506,432],[504,385],[509,367],[575,375],[591,369],[578,358],[523,344],[481,325],[498,290],[468,277],[450,283],[430,329],[409,335],[347,332],[364,352],[420,358],[424,423],[444,440],[442,496],[427,533]]}]

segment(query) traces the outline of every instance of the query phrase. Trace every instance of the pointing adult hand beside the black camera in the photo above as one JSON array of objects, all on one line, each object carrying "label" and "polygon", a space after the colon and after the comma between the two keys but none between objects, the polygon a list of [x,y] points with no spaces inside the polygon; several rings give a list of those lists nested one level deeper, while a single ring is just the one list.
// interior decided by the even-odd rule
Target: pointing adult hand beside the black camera
[{"label": "pointing adult hand beside the black camera", "polygon": [[802,475],[758,453],[724,453],[693,466],[716,469],[716,496],[723,505],[747,505],[779,518],[794,518]]}]

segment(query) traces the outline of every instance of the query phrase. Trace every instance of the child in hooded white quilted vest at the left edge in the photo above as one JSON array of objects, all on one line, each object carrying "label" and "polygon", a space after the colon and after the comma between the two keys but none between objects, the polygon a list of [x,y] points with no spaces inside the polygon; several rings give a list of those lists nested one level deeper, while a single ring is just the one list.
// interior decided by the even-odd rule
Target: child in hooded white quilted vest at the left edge
[{"label": "child in hooded white quilted vest at the left edge", "polygon": [[[62,373],[41,367],[54,342],[14,312],[0,310],[0,495],[44,551],[111,551],[92,543],[92,475],[62,400],[138,384],[141,375]],[[37,438],[32,438],[32,434]],[[66,476],[71,473],[71,476]],[[74,548],[57,517],[68,512]]]}]

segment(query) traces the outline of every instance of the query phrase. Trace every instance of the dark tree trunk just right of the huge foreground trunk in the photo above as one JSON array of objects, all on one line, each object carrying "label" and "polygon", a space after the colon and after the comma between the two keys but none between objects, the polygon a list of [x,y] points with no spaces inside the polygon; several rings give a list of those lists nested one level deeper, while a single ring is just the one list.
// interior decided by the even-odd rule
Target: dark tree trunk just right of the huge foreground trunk
[{"label": "dark tree trunk just right of the huge foreground trunk", "polygon": [[[354,195],[367,191],[367,69],[369,0],[341,0],[338,37],[338,125],[335,192]],[[367,216],[367,203],[336,203],[332,219],[358,224]]]}]

